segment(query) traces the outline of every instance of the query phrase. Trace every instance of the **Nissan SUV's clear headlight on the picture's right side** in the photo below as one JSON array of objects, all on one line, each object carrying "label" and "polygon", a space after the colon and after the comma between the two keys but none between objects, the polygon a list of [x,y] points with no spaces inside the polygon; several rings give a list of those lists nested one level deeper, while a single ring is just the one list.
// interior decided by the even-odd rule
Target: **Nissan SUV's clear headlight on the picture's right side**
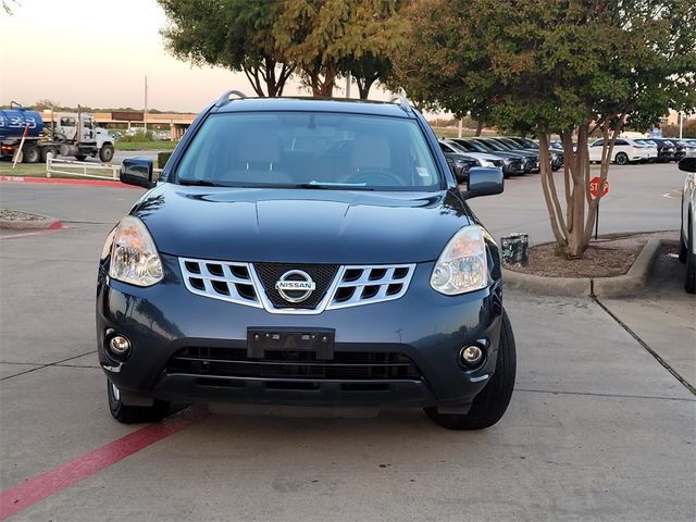
[{"label": "Nissan SUV's clear headlight on the picture's right side", "polygon": [[431,286],[447,296],[478,290],[488,285],[484,232],[478,225],[461,228],[440,254]]}]

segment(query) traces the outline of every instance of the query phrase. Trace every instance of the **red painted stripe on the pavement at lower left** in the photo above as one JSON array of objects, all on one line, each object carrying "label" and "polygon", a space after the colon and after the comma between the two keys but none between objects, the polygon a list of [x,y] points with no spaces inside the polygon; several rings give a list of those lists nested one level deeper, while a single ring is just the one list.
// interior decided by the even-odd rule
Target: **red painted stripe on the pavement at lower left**
[{"label": "red painted stripe on the pavement at lower left", "polygon": [[174,435],[208,415],[203,407],[192,407],[164,421],[141,427],[124,437],[29,478],[0,493],[0,520],[5,520],[51,495],[109,468],[116,462]]}]

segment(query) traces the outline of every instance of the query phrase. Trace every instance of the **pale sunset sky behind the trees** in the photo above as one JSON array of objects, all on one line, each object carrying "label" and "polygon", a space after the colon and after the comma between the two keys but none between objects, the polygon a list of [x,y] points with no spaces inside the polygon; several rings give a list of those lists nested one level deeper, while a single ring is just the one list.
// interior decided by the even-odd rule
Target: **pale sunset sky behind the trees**
[{"label": "pale sunset sky behind the trees", "polygon": [[[244,73],[191,66],[171,57],[159,34],[166,17],[156,0],[10,4],[11,16],[0,10],[0,104],[50,99],[70,107],[142,109],[146,75],[150,109],[199,112],[229,89],[253,96]],[[357,92],[353,87],[351,95]],[[285,94],[310,91],[293,82]],[[335,89],[334,96],[345,90]],[[371,91],[371,98],[385,97]]]}]

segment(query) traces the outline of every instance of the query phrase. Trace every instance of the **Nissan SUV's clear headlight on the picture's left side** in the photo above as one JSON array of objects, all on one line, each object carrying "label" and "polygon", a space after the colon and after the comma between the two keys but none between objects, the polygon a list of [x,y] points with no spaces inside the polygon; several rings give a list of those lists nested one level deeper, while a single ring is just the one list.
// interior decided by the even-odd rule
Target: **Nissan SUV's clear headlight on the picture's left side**
[{"label": "Nissan SUV's clear headlight on the picture's left side", "polygon": [[109,276],[137,286],[162,281],[162,261],[154,241],[137,217],[125,216],[115,229]]}]

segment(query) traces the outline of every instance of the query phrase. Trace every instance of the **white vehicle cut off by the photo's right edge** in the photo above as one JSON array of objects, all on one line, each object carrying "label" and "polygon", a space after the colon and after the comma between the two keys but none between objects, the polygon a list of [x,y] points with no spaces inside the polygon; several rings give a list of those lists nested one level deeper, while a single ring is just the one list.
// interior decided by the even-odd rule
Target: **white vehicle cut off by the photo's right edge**
[{"label": "white vehicle cut off by the photo's right edge", "polygon": [[686,284],[689,294],[696,294],[696,156],[687,156],[679,162],[685,171],[682,195],[682,228],[679,235],[679,260],[686,263]]}]

